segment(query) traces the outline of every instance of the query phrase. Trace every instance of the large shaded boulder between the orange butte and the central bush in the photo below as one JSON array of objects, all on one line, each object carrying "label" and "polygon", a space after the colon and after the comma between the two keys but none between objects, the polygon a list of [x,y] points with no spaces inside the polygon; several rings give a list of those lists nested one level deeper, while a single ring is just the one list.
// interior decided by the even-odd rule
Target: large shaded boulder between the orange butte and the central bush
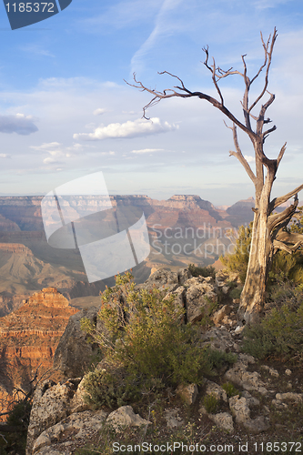
[{"label": "large shaded boulder between the orange butte and the central bush", "polygon": [[54,356],[54,368],[60,369],[66,378],[82,376],[96,354],[97,345],[87,342],[86,333],[80,329],[80,319],[87,318],[96,325],[97,312],[96,307],[83,309],[68,320]]}]

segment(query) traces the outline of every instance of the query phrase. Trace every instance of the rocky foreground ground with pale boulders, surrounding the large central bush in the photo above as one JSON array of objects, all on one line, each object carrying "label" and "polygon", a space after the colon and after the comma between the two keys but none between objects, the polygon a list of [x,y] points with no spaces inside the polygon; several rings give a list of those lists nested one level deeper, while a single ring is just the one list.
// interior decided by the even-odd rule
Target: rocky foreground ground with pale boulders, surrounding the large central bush
[{"label": "rocky foreground ground with pale boulders, surrounding the large central bush", "polygon": [[[141,288],[165,287],[168,293],[175,293],[177,304],[186,308],[187,321],[201,322],[201,309],[217,303],[211,317],[212,327],[204,334],[205,342],[213,349],[236,356],[233,365],[226,364],[217,376],[205,378],[199,388],[191,384],[187,388],[167,389],[167,398],[144,409],[136,403],[114,411],[88,407],[83,398],[83,382],[77,373],[81,359],[93,354],[94,346],[87,345],[79,329],[79,319],[86,315],[96,322],[97,308],[72,316],[55,356],[56,367],[66,379],[59,383],[47,380],[36,389],[26,455],[109,454],[115,452],[114,442],[120,444],[126,440],[130,452],[135,444],[144,441],[162,444],[161,452],[167,454],[182,453],[179,446],[175,451],[169,445],[164,447],[174,441],[191,444],[191,450],[189,446],[185,450],[189,453],[302,451],[302,370],[278,361],[259,362],[241,352],[238,302],[229,297],[230,288],[235,285],[236,276],[218,272],[216,279],[193,278],[188,269],[178,273],[158,270],[140,285]],[[224,386],[227,383],[229,388]],[[217,398],[217,409],[207,409],[207,396]],[[80,448],[86,450],[77,451]],[[119,453],[123,451],[126,449]]]}]

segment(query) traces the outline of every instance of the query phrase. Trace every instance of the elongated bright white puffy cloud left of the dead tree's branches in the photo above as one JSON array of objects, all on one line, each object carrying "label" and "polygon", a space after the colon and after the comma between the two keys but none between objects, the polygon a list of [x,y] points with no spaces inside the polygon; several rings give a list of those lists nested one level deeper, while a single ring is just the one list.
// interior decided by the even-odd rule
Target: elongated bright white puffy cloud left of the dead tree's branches
[{"label": "elongated bright white puffy cloud left of the dead tree's branches", "polygon": [[169,125],[168,122],[161,123],[158,117],[146,119],[138,118],[135,121],[128,120],[126,123],[111,123],[108,126],[99,126],[94,133],[75,134],[74,139],[101,140],[118,137],[138,137],[164,133],[177,129],[178,126]]}]

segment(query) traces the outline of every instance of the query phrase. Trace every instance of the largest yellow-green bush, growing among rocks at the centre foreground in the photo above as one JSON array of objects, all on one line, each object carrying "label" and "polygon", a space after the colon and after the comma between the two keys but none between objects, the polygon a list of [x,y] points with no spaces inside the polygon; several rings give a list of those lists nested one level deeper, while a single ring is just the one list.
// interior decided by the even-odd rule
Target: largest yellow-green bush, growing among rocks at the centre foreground
[{"label": "largest yellow-green bush, growing among rocks at the centre foreground", "polygon": [[[173,295],[165,298],[167,290],[135,290],[132,278],[129,272],[117,276],[116,287],[103,293],[98,313],[102,330],[97,331],[89,319],[82,319],[81,328],[99,344],[106,359],[125,369],[126,383],[136,384],[144,394],[201,383],[209,362],[199,329],[183,323],[184,308],[175,304]],[[103,388],[106,378],[98,376]],[[109,402],[112,399],[110,395]]]}]

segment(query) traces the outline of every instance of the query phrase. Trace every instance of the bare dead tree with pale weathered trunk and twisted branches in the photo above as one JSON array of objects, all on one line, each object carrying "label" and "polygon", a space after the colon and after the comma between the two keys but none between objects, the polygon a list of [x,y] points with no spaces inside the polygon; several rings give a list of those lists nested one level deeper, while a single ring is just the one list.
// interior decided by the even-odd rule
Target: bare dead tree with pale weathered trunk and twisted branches
[{"label": "bare dead tree with pale weathered trunk and twisted branches", "polygon": [[[237,157],[239,162],[247,171],[248,177],[252,180],[256,193],[256,205],[255,208],[253,208],[253,233],[247,266],[247,278],[241,294],[240,307],[238,310],[238,319],[243,323],[249,323],[258,319],[259,312],[263,308],[268,271],[273,254],[278,249],[285,249],[291,253],[303,245],[303,235],[299,235],[299,237],[297,235],[296,238],[292,238],[291,236],[286,237],[282,234],[283,229],[288,225],[291,217],[293,217],[296,212],[296,208],[298,207],[298,192],[303,189],[303,185],[293,189],[285,196],[276,197],[273,200],[270,200],[271,189],[274,180],[276,179],[278,167],[286,150],[286,144],[284,144],[284,146],[279,150],[278,157],[276,159],[269,159],[264,151],[266,138],[270,133],[277,129],[275,125],[266,129],[266,126],[268,126],[271,120],[270,118],[265,117],[268,107],[271,106],[275,100],[275,95],[268,92],[268,74],[277,36],[278,34],[275,28],[273,35],[269,35],[268,41],[265,42],[261,33],[264,60],[262,65],[258,68],[257,74],[252,78],[247,76],[247,63],[245,60],[246,55],[242,56],[242,72],[234,70],[232,67],[227,70],[223,70],[219,66],[216,66],[214,58],[212,58],[212,62],[209,62],[208,47],[203,49],[206,55],[204,65],[211,73],[213,84],[217,90],[217,98],[209,96],[203,92],[190,91],[178,76],[174,76],[167,71],[159,74],[167,74],[174,77],[177,79],[178,85],[173,88],[163,90],[162,92],[144,86],[142,82],[136,80],[136,74],[134,74],[135,84],[129,84],[130,86],[135,86],[142,91],[149,92],[153,96],[151,101],[143,108],[143,116],[146,119],[148,119],[146,117],[146,109],[148,107],[155,106],[161,99],[172,97],[197,97],[199,99],[206,100],[211,105],[217,107],[217,109],[227,116],[227,118],[232,122],[232,126],[228,127],[232,130],[235,150],[229,151],[229,156]],[[250,101],[250,87],[262,72],[264,74],[264,84],[262,85],[262,89],[255,100]],[[241,102],[243,108],[242,121],[239,120],[237,116],[234,116],[227,106],[225,106],[224,98],[219,87],[221,79],[233,75],[241,76],[245,84],[244,96]],[[256,113],[256,111],[258,112]],[[256,157],[255,172],[252,170],[247,162],[247,159],[241,152],[241,148],[237,140],[237,128],[240,128],[247,134],[252,146],[254,147]],[[286,208],[281,213],[274,212],[277,207],[287,202],[291,197],[295,197],[295,199],[294,203],[291,204],[290,207]]]}]

